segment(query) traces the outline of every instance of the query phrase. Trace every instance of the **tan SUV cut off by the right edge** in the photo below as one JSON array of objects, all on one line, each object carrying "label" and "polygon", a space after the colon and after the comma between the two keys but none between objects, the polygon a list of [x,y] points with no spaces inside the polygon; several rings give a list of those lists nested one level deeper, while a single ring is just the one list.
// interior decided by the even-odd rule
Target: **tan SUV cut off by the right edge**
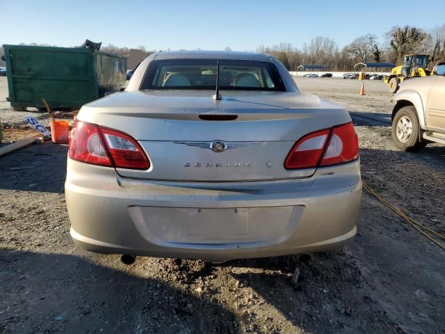
[{"label": "tan SUV cut off by the right edge", "polygon": [[445,62],[435,66],[431,77],[403,81],[392,101],[397,148],[415,152],[428,143],[445,144]]}]

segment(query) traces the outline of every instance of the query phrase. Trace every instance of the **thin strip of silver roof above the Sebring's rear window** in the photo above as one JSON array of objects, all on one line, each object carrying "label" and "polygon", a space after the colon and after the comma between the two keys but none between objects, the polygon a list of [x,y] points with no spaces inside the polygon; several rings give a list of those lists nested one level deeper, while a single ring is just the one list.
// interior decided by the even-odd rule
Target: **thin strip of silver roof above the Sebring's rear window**
[{"label": "thin strip of silver roof above the Sebring's rear window", "polygon": [[267,54],[241,51],[159,51],[155,59],[242,59],[249,61],[270,61],[270,56]]}]

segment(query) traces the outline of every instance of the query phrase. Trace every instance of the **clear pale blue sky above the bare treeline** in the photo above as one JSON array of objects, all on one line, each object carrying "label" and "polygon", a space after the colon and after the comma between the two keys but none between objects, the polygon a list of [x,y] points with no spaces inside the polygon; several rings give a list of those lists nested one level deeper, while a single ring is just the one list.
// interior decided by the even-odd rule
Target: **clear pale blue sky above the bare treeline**
[{"label": "clear pale blue sky above the bare treeline", "polygon": [[445,23],[445,0],[302,2],[0,0],[0,45],[69,47],[88,38],[156,50],[228,46],[254,51],[280,42],[301,47],[323,35],[343,47],[367,33],[383,42],[383,34],[396,24],[429,30]]}]

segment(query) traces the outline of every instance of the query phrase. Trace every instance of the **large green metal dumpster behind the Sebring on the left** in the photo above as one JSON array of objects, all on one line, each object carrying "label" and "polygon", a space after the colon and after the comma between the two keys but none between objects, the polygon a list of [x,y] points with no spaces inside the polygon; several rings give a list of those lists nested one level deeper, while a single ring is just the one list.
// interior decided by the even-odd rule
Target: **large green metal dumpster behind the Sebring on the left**
[{"label": "large green metal dumpster behind the Sebring on the left", "polygon": [[83,47],[3,45],[14,110],[79,109],[124,86],[127,58]]}]

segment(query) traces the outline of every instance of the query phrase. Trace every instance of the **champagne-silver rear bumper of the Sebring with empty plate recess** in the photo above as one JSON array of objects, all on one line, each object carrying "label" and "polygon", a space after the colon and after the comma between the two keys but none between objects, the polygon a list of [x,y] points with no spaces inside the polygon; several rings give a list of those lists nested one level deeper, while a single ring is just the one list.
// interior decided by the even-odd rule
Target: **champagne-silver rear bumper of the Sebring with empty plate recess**
[{"label": "champagne-silver rear bumper of the Sebring with empty plate recess", "polygon": [[161,182],[68,161],[72,239],[86,250],[225,261],[338,248],[357,228],[359,161],[304,180]]}]

